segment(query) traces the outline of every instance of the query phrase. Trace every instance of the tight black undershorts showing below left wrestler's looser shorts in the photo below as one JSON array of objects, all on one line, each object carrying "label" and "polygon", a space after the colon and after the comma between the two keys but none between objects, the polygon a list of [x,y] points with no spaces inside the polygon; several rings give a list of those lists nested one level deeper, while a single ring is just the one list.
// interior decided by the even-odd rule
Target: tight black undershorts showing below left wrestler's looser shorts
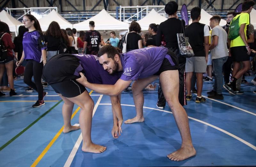
[{"label": "tight black undershorts showing below left wrestler's looser shorts", "polygon": [[59,93],[67,98],[76,97],[82,94],[84,91],[87,91],[83,85],[72,79],[59,83],[52,83],[50,85],[56,93]]}]

